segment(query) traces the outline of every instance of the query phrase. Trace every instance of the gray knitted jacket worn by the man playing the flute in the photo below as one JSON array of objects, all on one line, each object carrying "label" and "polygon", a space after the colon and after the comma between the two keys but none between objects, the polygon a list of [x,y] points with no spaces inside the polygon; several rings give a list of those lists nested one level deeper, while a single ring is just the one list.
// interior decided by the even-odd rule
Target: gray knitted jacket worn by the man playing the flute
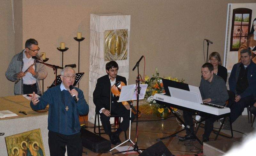
[{"label": "gray knitted jacket worn by the man playing the flute", "polygon": [[[5,71],[5,77],[10,81],[16,81],[17,74],[22,71],[23,68],[23,52],[22,50],[19,54],[16,54],[12,57],[12,61],[10,62],[7,71]],[[39,57],[38,54],[36,54],[37,57]],[[34,76],[36,78],[36,88],[37,88],[37,94],[42,94],[41,92],[41,85],[40,80],[43,80],[47,76],[47,71],[45,69],[45,65],[42,63],[36,63],[35,64],[35,72],[36,75]],[[22,95],[23,94],[23,79],[21,79],[17,84],[14,84],[14,95]]]}]

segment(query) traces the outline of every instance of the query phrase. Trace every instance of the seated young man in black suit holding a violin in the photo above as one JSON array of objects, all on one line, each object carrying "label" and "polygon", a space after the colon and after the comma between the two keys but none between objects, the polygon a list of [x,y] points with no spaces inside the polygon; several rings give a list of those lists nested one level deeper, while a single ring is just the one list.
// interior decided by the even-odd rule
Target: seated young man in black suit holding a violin
[{"label": "seated young man in black suit holding a violin", "polygon": [[[110,61],[106,64],[106,72],[108,73],[107,75],[97,80],[93,92],[93,102],[96,106],[96,111],[100,113],[100,121],[111,143],[118,145],[121,143],[119,139],[120,132],[126,131],[130,124],[130,106],[124,106],[121,102],[117,102],[119,97],[111,93],[111,86],[118,81],[123,81],[126,85],[126,79],[117,75],[118,64],[115,61]],[[114,133],[111,132],[110,115],[121,115],[123,117],[123,122],[120,123],[120,127]],[[133,113],[131,120],[134,120]]]}]

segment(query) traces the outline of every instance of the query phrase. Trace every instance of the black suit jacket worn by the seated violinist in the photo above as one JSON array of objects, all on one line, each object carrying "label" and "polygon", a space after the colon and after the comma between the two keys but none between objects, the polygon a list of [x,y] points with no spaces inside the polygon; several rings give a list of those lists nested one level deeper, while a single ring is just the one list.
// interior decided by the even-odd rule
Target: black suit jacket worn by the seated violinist
[{"label": "black suit jacket worn by the seated violinist", "polygon": [[[116,82],[123,81],[126,85],[126,78],[117,75]],[[93,92],[93,102],[96,106],[96,111],[99,112],[101,108],[110,110],[110,80],[108,75],[98,78],[95,90]],[[111,103],[118,103],[119,96],[116,97],[111,93]],[[112,106],[111,106],[112,107]]]}]

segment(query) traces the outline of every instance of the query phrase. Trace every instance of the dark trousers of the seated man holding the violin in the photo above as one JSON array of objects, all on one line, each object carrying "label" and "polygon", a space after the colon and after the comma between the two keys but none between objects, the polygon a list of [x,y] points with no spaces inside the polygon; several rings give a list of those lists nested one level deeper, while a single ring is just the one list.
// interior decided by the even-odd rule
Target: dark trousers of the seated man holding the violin
[{"label": "dark trousers of the seated man holding the violin", "polygon": [[[111,104],[111,115],[120,115],[123,118],[122,123],[120,123],[119,129],[126,131],[130,125],[130,110],[126,109],[122,104],[115,103]],[[132,113],[131,122],[134,120],[135,116]],[[111,135],[111,125],[110,117],[100,113],[100,121],[102,123],[103,129],[106,134]]]}]

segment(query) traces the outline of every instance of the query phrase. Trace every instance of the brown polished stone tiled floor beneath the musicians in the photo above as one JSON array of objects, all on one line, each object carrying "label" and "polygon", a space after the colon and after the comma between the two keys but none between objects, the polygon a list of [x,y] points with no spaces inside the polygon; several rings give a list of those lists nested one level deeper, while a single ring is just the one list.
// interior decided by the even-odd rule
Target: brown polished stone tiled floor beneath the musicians
[{"label": "brown polished stone tiled floor beneath the musicians", "polygon": [[[181,111],[182,112],[182,111]],[[90,130],[93,132],[93,124],[86,122],[85,125],[87,126],[87,130]],[[115,125],[113,125],[115,126]],[[214,127],[218,128],[220,127],[219,122],[214,123]],[[135,139],[135,129],[136,129],[136,122],[132,123],[131,126],[131,140],[134,141]],[[171,116],[168,119],[161,120],[160,118],[154,116],[154,115],[141,115],[139,118],[139,123],[138,123],[138,141],[137,145],[140,149],[146,149],[150,147],[151,145],[157,143],[156,139],[161,138],[161,137],[166,137],[170,136],[175,132],[178,132],[182,130],[183,127],[180,125],[179,122],[177,122],[176,117]],[[254,130],[253,127],[248,123],[247,116],[243,115],[240,116],[235,123],[233,123],[233,129],[236,131],[243,132],[245,134],[248,134]],[[245,136],[244,134],[240,132],[234,131],[234,137],[243,137]],[[202,134],[204,132],[204,128],[199,128],[197,137],[202,140]],[[226,134],[230,135],[230,130],[222,130],[222,132],[225,132]],[[185,130],[181,131],[178,133],[178,135],[185,135]],[[129,137],[129,131],[127,131],[127,136]],[[211,134],[210,136],[210,141],[214,140],[215,134]],[[109,139],[106,134],[103,134],[102,137]],[[124,138],[124,133],[120,134],[120,139],[122,142],[125,141]],[[217,140],[223,140],[223,143],[225,143],[225,140],[228,138],[219,136]],[[181,155],[193,155],[199,152],[203,151],[202,145],[199,144],[198,141],[185,141],[185,142],[180,142],[178,140],[178,137],[171,137],[171,138],[166,138],[162,140],[163,143],[166,145],[166,147],[172,152],[172,154],[176,156],[181,156]],[[135,142],[135,141],[134,141]],[[124,145],[131,145],[130,142],[126,142]],[[220,145],[223,146],[223,145]],[[114,145],[111,145],[112,148],[114,148]],[[227,148],[225,146],[225,148]],[[116,149],[114,149],[111,152],[108,153],[94,153],[90,151],[87,148],[84,148],[84,151],[88,152],[87,155],[90,156],[110,156],[112,155],[113,152],[118,152]],[[83,154],[85,156],[86,154]],[[118,156],[122,156],[124,154],[119,153],[119,154],[114,154]],[[138,153],[131,153],[129,154],[131,156],[138,155]]]}]

